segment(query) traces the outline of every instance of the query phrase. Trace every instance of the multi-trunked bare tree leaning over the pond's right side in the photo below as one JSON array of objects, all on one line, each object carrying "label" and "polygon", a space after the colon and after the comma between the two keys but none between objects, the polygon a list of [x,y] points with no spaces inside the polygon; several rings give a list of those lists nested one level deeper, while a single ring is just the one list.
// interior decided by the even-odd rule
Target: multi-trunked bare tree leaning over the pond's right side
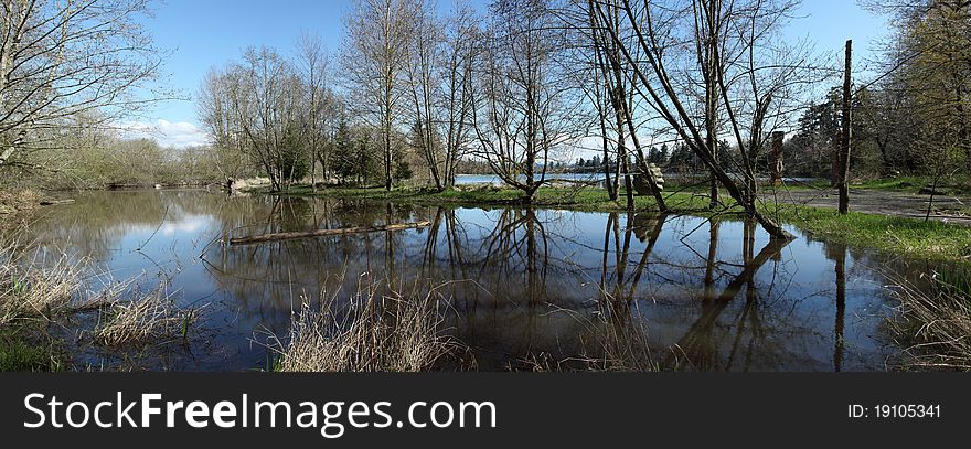
[{"label": "multi-trunked bare tree leaning over the pond's right side", "polygon": [[[769,234],[791,238],[757,205],[756,163],[768,137],[765,130],[787,118],[788,101],[796,98],[800,83],[807,82],[809,64],[802,53],[777,39],[780,24],[798,2],[601,3],[601,19],[619,10],[636,38],[631,46],[623,35],[605,28],[638,79],[638,95],[657,113],[662,126],[697,156]],[[719,139],[709,131],[715,128],[716,109],[724,110],[724,132],[740,148],[740,160],[732,161],[741,171],[740,185],[715,157]]]}]

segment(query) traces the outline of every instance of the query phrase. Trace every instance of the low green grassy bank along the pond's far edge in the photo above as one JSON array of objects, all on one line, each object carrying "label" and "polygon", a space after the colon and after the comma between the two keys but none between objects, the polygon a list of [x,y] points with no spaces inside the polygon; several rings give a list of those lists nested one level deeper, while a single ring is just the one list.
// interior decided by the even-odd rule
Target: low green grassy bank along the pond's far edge
[{"label": "low green grassy bank along the pond's far edge", "polygon": [[[377,188],[335,188],[312,192],[308,185],[295,185],[287,192],[266,189],[250,193],[280,197],[326,197],[335,200],[371,200],[418,205],[497,206],[559,209],[574,212],[627,212],[625,199],[610,201],[606,191],[575,188],[543,188],[533,202],[523,201],[519,191],[495,186],[446,190]],[[727,199],[727,196],[723,196]],[[733,216],[744,213],[733,204],[718,211],[707,207],[708,199],[695,192],[668,193],[670,214],[703,217]],[[728,199],[730,200],[730,199]],[[851,203],[852,207],[852,203]],[[851,247],[875,249],[895,255],[916,257],[936,263],[971,265],[971,226],[939,220],[925,221],[908,216],[851,212],[841,216],[834,209],[805,206],[780,202],[764,205],[766,213],[780,222],[793,225],[814,238],[828,239]],[[634,196],[636,212],[654,212],[657,204],[650,196]]]}]

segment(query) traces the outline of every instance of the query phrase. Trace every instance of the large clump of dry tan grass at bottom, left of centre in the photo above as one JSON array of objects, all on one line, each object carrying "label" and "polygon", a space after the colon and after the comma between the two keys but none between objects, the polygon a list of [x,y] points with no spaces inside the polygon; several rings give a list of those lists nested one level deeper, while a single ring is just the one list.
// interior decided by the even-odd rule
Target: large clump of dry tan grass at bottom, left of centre
[{"label": "large clump of dry tan grass at bottom, left of centre", "polygon": [[[382,295],[359,285],[350,298],[322,296],[318,309],[305,298],[292,316],[288,342],[271,335],[284,372],[420,372],[463,346],[445,336],[444,307],[435,289]],[[339,299],[346,299],[341,303]]]}]

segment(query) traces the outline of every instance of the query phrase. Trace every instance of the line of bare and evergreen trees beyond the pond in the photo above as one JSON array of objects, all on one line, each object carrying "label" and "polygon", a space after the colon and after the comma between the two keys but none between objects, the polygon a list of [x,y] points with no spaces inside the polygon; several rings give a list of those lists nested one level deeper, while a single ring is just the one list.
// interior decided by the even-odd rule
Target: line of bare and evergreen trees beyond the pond
[{"label": "line of bare and evergreen trees beyond the pond", "polygon": [[[894,34],[877,75],[853,86],[851,172],[967,177],[971,6],[864,4],[893,18]],[[98,145],[79,137],[110,135],[120,117],[170,97],[135,95],[159,79],[166,55],[138,24],[148,1],[0,6],[4,178],[61,170],[58,154]],[[782,36],[799,7],[355,0],[335,52],[312,35],[286,54],[249,47],[211,71],[199,115],[213,146],[237,156],[215,159],[221,173],[258,171],[276,190],[309,175],[313,189],[418,178],[409,182],[441,191],[460,169],[487,165],[529,202],[584,149],[628,209],[641,177],[666,210],[645,167],[677,162],[707,172],[709,207],[738,204],[787,237],[758,182],[771,136],[789,131],[793,173],[822,177],[849,122],[830,89],[839,62]],[[659,157],[662,142],[670,154]]]}]

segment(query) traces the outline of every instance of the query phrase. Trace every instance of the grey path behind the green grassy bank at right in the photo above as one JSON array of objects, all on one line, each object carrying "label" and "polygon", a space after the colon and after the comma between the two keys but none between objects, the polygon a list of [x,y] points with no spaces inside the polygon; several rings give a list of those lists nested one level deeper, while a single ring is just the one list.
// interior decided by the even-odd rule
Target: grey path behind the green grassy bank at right
[{"label": "grey path behind the green grassy bank at right", "polygon": [[[839,205],[839,196],[833,189],[778,192],[777,197],[780,202],[812,207],[836,209]],[[929,199],[929,195],[915,193],[857,189],[850,191],[850,209],[868,214],[924,218]],[[971,226],[971,197],[935,196],[933,209],[931,220]]]}]

